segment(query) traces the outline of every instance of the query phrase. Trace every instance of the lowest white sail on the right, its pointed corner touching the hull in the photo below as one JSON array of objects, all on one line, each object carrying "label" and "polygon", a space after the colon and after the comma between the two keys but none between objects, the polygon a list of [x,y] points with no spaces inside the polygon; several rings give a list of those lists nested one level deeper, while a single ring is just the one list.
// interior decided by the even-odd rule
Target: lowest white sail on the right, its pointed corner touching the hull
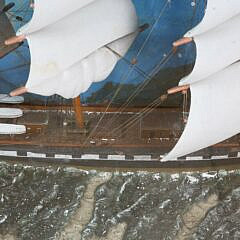
[{"label": "lowest white sail on the right, its pointed corner touching the hull", "polygon": [[171,160],[221,142],[240,132],[240,62],[191,85],[191,109],[186,128]]}]

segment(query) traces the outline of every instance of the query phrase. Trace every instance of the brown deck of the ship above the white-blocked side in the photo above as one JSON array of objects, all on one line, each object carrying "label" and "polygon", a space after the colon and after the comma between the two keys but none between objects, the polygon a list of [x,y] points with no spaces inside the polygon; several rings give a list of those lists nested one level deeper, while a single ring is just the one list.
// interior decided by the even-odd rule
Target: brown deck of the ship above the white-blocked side
[{"label": "brown deck of the ship above the white-blocked side", "polygon": [[[181,110],[174,108],[159,108],[145,116],[140,114],[140,108],[128,108],[119,114],[117,108],[110,108],[107,113],[103,113],[103,107],[83,106],[84,128],[76,123],[72,107],[35,107],[29,110],[30,106],[23,105],[21,108],[24,109],[23,117],[6,122],[26,125],[27,133],[1,135],[1,145],[163,148],[168,151],[176,144],[184,128]],[[125,128],[124,123],[132,118],[138,119],[135,125]],[[239,140],[237,136],[215,147],[237,151],[240,149]]]}]

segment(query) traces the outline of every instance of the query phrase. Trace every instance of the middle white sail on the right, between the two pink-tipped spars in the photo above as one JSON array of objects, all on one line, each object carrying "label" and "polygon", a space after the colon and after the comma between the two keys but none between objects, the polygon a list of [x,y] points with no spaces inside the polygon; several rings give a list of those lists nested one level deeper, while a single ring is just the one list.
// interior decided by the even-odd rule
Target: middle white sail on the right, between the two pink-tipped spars
[{"label": "middle white sail on the right, between the two pink-tipped spars", "polygon": [[240,58],[240,15],[196,36],[197,58],[191,74],[180,81],[190,84],[214,74]]}]

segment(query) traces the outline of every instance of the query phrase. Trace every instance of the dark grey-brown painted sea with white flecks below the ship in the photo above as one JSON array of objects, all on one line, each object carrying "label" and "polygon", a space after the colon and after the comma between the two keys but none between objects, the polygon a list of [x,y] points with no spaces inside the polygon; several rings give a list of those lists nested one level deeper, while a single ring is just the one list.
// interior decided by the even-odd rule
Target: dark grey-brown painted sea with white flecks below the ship
[{"label": "dark grey-brown painted sea with white flecks below the ship", "polygon": [[240,170],[0,163],[0,239],[240,239]]}]

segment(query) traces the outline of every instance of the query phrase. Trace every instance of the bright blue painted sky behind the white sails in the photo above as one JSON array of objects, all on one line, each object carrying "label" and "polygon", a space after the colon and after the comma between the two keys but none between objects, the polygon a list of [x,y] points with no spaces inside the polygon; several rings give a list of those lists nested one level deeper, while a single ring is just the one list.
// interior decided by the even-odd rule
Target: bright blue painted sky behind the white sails
[{"label": "bright blue painted sky behind the white sails", "polygon": [[[29,0],[7,0],[15,2],[13,14],[21,15],[27,22],[31,18],[31,10],[28,8]],[[196,3],[197,2],[197,3]],[[138,67],[146,73],[151,71],[163,60],[172,47],[172,42],[181,38],[183,34],[196,25],[203,16],[204,0],[133,0],[139,17],[139,25],[148,23],[150,27],[141,33],[126,58],[131,60],[145,43],[145,47],[138,57]],[[28,10],[28,11],[26,11]],[[15,28],[23,23],[17,22],[11,17]],[[151,33],[151,34],[150,34]],[[148,39],[146,41],[146,39]],[[194,47],[190,44],[179,50],[162,68],[174,68],[194,61]],[[6,93],[15,87],[24,85],[27,80],[30,62],[27,43],[8,56],[0,59],[0,92]],[[84,93],[89,96],[100,89],[106,81],[136,83],[143,81],[143,77],[133,72],[127,79],[124,77],[130,67],[122,60],[115,67],[112,74],[103,82],[96,83]]]}]

